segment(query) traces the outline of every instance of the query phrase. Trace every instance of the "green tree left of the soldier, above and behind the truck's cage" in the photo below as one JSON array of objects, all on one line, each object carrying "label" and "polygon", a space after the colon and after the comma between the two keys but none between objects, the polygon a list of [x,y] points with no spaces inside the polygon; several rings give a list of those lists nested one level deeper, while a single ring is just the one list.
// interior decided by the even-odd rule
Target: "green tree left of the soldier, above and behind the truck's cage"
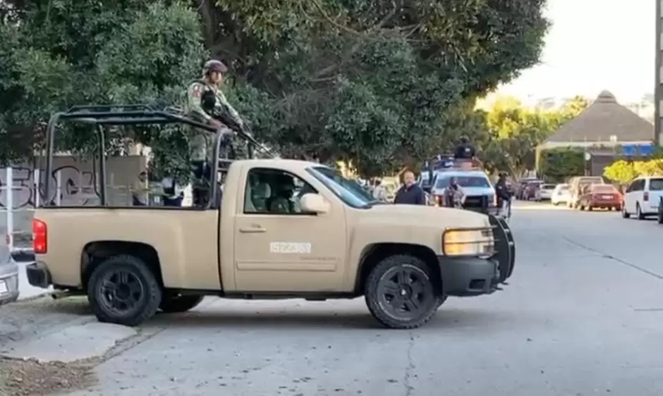
[{"label": "green tree left of the soldier, above and behind the truck's cage", "polygon": [[[205,56],[197,14],[180,1],[6,1],[16,10],[0,27],[0,160],[29,156],[43,125],[55,111],[74,104],[148,103],[178,100]],[[178,131],[116,128],[109,147],[129,142],[152,147],[155,156],[178,149]],[[25,143],[28,144],[25,144]],[[89,129],[71,125],[59,132],[59,148],[95,147]],[[162,149],[162,147],[164,149]],[[162,161],[163,162],[163,161]]]}]

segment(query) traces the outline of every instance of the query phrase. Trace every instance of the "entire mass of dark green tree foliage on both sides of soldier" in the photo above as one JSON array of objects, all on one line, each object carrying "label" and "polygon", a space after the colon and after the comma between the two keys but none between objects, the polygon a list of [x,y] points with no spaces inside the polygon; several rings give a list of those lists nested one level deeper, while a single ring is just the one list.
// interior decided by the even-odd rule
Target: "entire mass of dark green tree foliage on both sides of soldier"
[{"label": "entire mass of dark green tree foliage on both sides of soldier", "polygon": [[[544,0],[7,0],[0,8],[0,133],[25,156],[54,111],[90,102],[177,101],[209,52],[226,91],[284,156],[373,175],[429,156],[461,133],[489,140],[479,97],[535,65]],[[198,14],[196,14],[198,13]],[[93,135],[64,130],[84,151]],[[150,145],[182,168],[186,137],[117,128],[109,144]]]}]

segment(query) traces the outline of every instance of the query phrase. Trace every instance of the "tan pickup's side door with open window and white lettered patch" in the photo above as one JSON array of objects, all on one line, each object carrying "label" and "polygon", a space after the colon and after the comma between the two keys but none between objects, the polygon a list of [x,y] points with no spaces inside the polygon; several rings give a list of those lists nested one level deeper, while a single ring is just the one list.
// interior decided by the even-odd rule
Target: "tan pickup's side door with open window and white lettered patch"
[{"label": "tan pickup's side door with open window and white lettered patch", "polygon": [[252,168],[245,183],[234,226],[236,289],[340,291],[347,252],[344,208],[302,213],[300,197],[319,192],[287,171]]}]

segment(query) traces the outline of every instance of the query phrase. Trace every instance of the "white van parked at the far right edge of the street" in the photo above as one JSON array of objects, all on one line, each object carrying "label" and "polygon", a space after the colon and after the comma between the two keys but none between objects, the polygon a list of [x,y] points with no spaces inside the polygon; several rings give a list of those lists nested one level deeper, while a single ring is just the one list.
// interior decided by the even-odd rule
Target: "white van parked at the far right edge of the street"
[{"label": "white van parked at the far right edge of the street", "polygon": [[624,205],[621,216],[635,214],[643,220],[647,216],[658,214],[659,203],[663,197],[663,176],[645,176],[631,182],[624,192]]}]

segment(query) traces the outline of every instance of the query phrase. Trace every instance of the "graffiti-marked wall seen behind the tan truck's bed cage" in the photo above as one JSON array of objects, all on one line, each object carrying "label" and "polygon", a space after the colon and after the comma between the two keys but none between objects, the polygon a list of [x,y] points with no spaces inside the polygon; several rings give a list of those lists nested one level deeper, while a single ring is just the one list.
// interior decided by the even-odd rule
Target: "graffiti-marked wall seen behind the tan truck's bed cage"
[{"label": "graffiti-marked wall seen behind the tan truck's bed cage", "polygon": [[[113,199],[113,190],[119,188],[128,191],[128,186],[133,184],[138,174],[145,171],[145,164],[144,156],[109,158],[107,160],[109,199]],[[39,180],[35,180],[35,173],[37,173],[35,169],[39,169]],[[28,164],[20,164],[12,168],[13,187],[10,189],[6,170],[0,168],[0,207],[6,207],[10,193],[13,209],[33,208],[44,202],[56,202],[58,194],[60,204],[64,206],[95,205],[98,202],[99,187],[95,183],[94,169],[92,163],[78,161],[73,156],[54,158],[53,171],[50,175],[44,174],[43,167],[36,168]],[[49,183],[48,197],[46,196],[46,183]],[[115,197],[118,198],[117,194]],[[121,202],[126,199],[115,199],[115,201],[114,204],[122,204]]]}]

